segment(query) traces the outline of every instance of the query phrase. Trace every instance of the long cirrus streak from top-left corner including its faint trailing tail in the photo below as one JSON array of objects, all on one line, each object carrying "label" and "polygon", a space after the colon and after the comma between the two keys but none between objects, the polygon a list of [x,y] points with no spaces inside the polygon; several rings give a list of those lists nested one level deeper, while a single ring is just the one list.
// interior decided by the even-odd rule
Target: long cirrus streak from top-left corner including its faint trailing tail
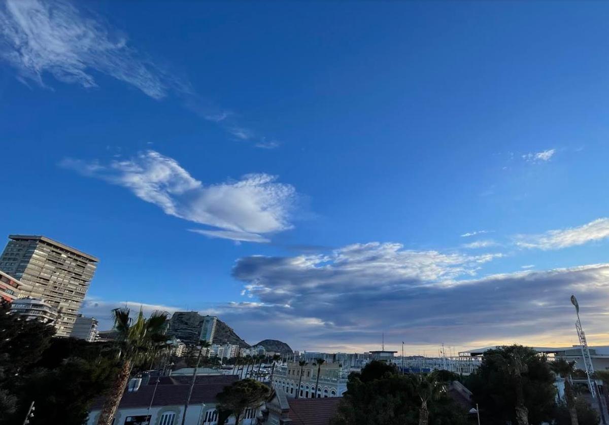
[{"label": "long cirrus streak from top-left corner including its faint trailing tail", "polygon": [[273,149],[232,111],[196,93],[189,82],[164,71],[133,47],[124,32],[66,0],[6,0],[0,4],[0,58],[19,79],[50,88],[47,75],[64,83],[97,87],[95,72],[127,83],[153,99],[177,96],[184,107],[241,141]]}]

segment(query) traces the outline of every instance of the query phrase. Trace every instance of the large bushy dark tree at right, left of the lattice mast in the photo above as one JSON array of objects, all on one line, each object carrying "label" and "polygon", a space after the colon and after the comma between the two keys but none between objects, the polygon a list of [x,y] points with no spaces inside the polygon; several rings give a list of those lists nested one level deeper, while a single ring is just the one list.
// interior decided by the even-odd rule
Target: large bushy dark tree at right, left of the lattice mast
[{"label": "large bushy dark tree at right, left of the lattice mast", "polygon": [[555,407],[554,374],[547,359],[532,348],[502,346],[486,351],[477,373],[465,386],[481,406],[485,424],[551,422]]}]

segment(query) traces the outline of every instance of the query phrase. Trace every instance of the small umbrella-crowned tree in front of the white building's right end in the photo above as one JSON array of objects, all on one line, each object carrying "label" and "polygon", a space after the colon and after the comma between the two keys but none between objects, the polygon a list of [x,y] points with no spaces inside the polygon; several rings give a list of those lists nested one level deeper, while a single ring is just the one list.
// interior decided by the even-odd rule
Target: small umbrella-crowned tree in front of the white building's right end
[{"label": "small umbrella-crowned tree in front of the white building's right end", "polygon": [[225,387],[217,395],[218,409],[228,410],[239,425],[241,416],[247,409],[256,409],[269,396],[270,388],[253,379],[243,379]]}]

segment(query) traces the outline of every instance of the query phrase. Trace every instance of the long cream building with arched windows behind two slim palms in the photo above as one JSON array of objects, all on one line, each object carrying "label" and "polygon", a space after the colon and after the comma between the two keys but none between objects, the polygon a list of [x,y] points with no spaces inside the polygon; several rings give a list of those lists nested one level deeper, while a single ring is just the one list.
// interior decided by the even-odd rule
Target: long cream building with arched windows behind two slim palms
[{"label": "long cream building with arched windows behind two slim palms", "polygon": [[[343,376],[342,365],[337,363],[324,363],[320,367],[319,398],[342,397],[347,391],[347,378]],[[302,376],[301,376],[302,374]],[[300,389],[298,383],[300,382]],[[317,364],[309,363],[303,367],[297,362],[288,362],[287,365],[275,368],[273,374],[273,387],[282,390],[290,398],[315,398],[315,384],[317,383]]]}]

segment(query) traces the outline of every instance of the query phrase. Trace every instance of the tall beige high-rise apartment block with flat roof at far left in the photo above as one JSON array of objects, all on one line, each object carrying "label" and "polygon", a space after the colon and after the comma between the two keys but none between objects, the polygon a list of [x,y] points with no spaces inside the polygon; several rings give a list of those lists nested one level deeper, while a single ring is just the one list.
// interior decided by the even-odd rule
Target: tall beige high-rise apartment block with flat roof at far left
[{"label": "tall beige high-rise apartment block with flat roof at far left", "polygon": [[0,270],[21,281],[22,296],[41,298],[57,308],[57,336],[68,337],[99,260],[44,236],[9,238]]}]

